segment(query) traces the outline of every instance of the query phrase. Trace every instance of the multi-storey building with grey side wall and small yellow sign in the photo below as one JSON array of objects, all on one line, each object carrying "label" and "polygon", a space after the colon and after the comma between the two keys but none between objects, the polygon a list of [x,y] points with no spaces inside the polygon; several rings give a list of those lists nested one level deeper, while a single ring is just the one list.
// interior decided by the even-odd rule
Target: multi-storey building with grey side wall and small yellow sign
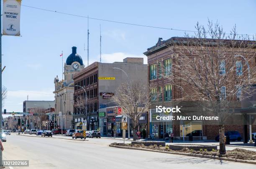
[{"label": "multi-storey building with grey side wall and small yellow sign", "polygon": [[[127,75],[126,75],[127,74]],[[100,128],[105,136],[111,136],[112,130],[120,132],[122,119],[113,110],[115,103],[110,101],[111,95],[125,81],[141,80],[147,82],[147,65],[143,64],[143,58],[128,57],[123,62],[101,63],[94,62],[84,70],[74,75],[74,122],[76,128],[82,127],[82,120],[85,120],[86,109],[76,106],[79,98],[87,96],[87,112],[90,112],[90,124],[88,130]],[[85,89],[82,89],[81,86]],[[109,108],[108,108],[109,107]],[[99,112],[100,109],[100,112]],[[131,124],[131,123],[130,123]],[[132,125],[132,124],[131,124]],[[146,129],[146,123],[141,124]],[[132,130],[131,130],[132,132]],[[118,133],[119,136],[122,134]]]}]

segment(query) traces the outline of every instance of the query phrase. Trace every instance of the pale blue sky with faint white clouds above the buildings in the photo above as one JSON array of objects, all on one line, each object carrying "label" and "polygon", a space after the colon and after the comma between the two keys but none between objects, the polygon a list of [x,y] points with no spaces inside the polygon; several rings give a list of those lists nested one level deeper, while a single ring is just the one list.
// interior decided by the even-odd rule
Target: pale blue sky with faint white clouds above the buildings
[{"label": "pale blue sky with faint white clouds above the buildings", "polygon": [[[2,1],[3,3],[3,1]],[[197,21],[207,25],[218,20],[226,32],[236,24],[240,34],[256,34],[255,0],[22,0],[22,5],[154,27],[195,30]],[[6,66],[2,82],[7,88],[3,109],[22,112],[23,101],[54,100],[54,77],[62,75],[64,62],[77,47],[87,65],[87,18],[64,15],[21,6],[20,37],[2,37],[2,62]],[[144,57],[159,37],[184,36],[184,31],[139,27],[89,19],[90,60],[122,61],[125,57]]]}]

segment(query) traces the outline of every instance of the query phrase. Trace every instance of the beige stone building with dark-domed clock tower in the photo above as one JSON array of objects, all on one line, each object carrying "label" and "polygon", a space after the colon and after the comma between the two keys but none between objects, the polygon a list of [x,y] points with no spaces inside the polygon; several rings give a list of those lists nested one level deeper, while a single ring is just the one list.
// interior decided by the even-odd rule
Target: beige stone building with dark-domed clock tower
[{"label": "beige stone building with dark-domed clock tower", "polygon": [[72,129],[74,113],[74,80],[73,75],[84,69],[77,47],[72,47],[72,54],[67,57],[64,65],[64,80],[54,78],[55,85],[55,112],[57,128]]}]

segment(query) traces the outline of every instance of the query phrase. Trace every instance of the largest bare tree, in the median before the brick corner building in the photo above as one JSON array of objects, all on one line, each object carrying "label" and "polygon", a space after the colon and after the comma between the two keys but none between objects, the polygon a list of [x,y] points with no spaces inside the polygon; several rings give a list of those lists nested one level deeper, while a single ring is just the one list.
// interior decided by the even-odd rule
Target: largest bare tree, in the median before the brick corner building
[{"label": "largest bare tree, in the median before the brick corner building", "polygon": [[172,73],[165,77],[179,89],[176,100],[203,101],[219,117],[220,154],[225,154],[224,122],[238,107],[241,88],[256,82],[255,45],[236,27],[225,34],[218,22],[208,20],[207,27],[197,22],[195,28],[195,35],[169,43]]}]

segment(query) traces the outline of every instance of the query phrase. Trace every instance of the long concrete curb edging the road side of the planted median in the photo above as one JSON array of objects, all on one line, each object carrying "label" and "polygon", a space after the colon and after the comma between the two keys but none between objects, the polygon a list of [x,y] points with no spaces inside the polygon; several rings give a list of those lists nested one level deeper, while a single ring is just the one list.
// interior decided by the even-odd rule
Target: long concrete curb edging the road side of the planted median
[{"label": "long concrete curb edging the road side of the planted median", "polygon": [[247,163],[247,164],[256,164],[256,161],[251,161],[251,160],[230,159],[227,157],[216,157],[216,156],[209,156],[209,155],[202,155],[202,154],[189,154],[189,153],[181,153],[181,152],[164,152],[164,151],[153,150],[153,149],[144,149],[144,148],[137,148],[137,147],[123,147],[123,146],[117,146],[117,145],[111,145],[111,144],[109,145],[109,147],[115,147],[115,148],[121,148],[121,149],[143,150],[143,151],[148,151],[148,152],[160,152],[160,153],[166,153],[166,154],[176,154],[176,155],[200,157],[200,158],[207,158],[207,159],[218,159],[218,160],[225,160],[225,161],[230,161],[230,162],[241,162],[241,163]]}]

